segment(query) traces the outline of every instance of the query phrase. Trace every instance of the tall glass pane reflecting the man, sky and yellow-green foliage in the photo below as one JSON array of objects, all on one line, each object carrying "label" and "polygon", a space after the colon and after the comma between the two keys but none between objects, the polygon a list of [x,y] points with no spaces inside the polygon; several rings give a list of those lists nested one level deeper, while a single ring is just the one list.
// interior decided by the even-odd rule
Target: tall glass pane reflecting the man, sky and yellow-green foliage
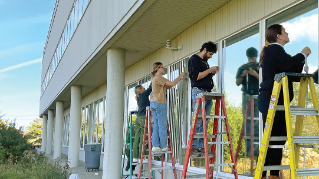
[{"label": "tall glass pane reflecting the man, sky and yellow-green foliage", "polygon": [[[225,86],[223,92],[234,155],[237,150],[239,151],[237,171],[239,174],[253,176],[254,163],[256,163],[256,156],[259,152],[257,107],[259,25],[226,39],[224,45],[226,48],[224,48]],[[253,105],[248,105],[249,103]],[[251,116],[251,110],[254,110],[253,116]],[[225,131],[224,125],[222,130]],[[227,141],[227,135],[223,135],[223,140]],[[222,163],[232,163],[229,148],[226,145],[217,147],[222,149]],[[232,169],[225,166],[222,167],[222,171],[231,173]]]}]

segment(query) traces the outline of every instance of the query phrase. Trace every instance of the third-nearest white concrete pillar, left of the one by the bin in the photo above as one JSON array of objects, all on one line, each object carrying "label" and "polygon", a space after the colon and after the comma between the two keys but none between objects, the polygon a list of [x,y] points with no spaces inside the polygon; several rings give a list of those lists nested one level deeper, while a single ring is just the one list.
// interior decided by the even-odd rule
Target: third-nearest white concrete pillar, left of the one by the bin
[{"label": "third-nearest white concrete pillar, left of the one by the bin", "polygon": [[53,159],[61,158],[62,153],[62,132],[63,132],[63,102],[57,101],[55,108],[54,122],[54,153]]}]

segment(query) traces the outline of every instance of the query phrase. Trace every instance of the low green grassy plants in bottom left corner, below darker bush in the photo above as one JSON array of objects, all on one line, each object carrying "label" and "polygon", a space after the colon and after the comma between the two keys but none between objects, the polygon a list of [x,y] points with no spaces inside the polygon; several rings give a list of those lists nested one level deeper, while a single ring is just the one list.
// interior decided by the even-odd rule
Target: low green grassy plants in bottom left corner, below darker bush
[{"label": "low green grassy plants in bottom left corner, below darker bush", "polygon": [[12,160],[0,165],[1,179],[20,179],[20,178],[52,178],[67,179],[68,164],[60,166],[47,164],[44,154],[38,154],[35,151],[26,151],[23,157],[17,163]]}]

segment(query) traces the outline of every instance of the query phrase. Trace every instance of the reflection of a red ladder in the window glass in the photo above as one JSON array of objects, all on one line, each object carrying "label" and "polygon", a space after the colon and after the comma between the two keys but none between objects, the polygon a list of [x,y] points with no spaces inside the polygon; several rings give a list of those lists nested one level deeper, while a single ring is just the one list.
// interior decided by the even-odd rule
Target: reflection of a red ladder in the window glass
[{"label": "reflection of a red ladder in the window glass", "polygon": [[[241,132],[240,132],[240,136],[239,136],[239,141],[238,141],[238,146],[237,146],[237,150],[236,150],[236,155],[235,155],[235,161],[237,163],[238,161],[238,157],[239,157],[239,151],[241,149],[241,142],[243,139],[243,136],[245,134],[245,129],[246,129],[246,125],[247,125],[247,120],[248,120],[248,114],[249,114],[249,110],[250,111],[250,176],[254,176],[254,140],[255,140],[255,135],[254,135],[254,129],[255,129],[255,125],[254,125],[254,120],[259,120],[259,118],[255,119],[255,113],[254,113],[254,106],[255,106],[255,99],[254,97],[250,96],[250,99],[248,99],[248,106],[247,106],[247,110],[246,110],[246,116],[245,119],[243,120],[243,126],[241,128]],[[249,124],[248,124],[249,125]]]}]

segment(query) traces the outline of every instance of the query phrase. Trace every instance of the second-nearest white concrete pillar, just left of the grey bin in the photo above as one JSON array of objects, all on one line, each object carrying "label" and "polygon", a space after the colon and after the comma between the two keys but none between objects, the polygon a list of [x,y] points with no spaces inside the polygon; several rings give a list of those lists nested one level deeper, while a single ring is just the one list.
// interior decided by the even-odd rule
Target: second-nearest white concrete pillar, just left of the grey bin
[{"label": "second-nearest white concrete pillar, just left of the grey bin", "polygon": [[81,86],[71,86],[70,138],[68,160],[70,167],[78,167],[81,130]]}]

